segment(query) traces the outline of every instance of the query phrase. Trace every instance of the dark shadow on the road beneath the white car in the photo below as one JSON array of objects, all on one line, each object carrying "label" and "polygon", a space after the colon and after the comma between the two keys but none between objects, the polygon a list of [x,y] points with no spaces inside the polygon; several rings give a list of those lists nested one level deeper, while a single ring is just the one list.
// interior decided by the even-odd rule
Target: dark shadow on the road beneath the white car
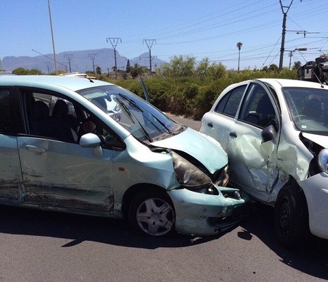
[{"label": "dark shadow on the road beneath the white car", "polygon": [[241,227],[239,238],[251,240],[255,235],[281,258],[282,263],[313,277],[328,279],[328,240],[311,238],[304,246],[292,250],[280,246],[275,238],[273,208],[265,205],[259,205],[256,214],[241,222]]}]

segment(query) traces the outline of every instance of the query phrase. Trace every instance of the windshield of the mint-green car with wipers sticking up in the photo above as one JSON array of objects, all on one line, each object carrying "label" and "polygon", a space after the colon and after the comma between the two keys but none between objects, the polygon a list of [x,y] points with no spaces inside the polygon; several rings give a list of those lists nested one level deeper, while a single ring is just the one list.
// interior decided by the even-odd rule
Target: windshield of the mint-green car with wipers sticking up
[{"label": "windshield of the mint-green car with wipers sticking up", "polygon": [[120,86],[98,86],[77,92],[141,141],[154,142],[185,129],[150,103]]}]

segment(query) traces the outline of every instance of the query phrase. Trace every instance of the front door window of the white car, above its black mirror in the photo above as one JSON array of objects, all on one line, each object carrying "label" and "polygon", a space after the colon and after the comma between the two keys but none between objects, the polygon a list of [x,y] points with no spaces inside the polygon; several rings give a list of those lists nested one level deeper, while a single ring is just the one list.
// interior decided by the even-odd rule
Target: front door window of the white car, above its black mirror
[{"label": "front door window of the white car, above its black mirror", "polygon": [[[276,114],[267,91],[259,84],[250,84],[241,107],[239,120],[264,128],[275,125]],[[276,127],[276,126],[275,126]]]}]

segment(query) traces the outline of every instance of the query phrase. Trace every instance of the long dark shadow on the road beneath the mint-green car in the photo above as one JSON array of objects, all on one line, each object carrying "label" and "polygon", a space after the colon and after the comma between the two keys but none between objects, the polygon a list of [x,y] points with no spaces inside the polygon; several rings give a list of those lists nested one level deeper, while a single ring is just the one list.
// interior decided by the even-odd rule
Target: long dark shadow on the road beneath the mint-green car
[{"label": "long dark shadow on the road beneath the mint-green car", "polygon": [[126,220],[38,211],[0,205],[0,233],[65,238],[70,247],[83,241],[100,242],[133,248],[176,248],[201,244],[218,237],[198,238],[171,235],[167,238],[148,238],[135,235]]}]

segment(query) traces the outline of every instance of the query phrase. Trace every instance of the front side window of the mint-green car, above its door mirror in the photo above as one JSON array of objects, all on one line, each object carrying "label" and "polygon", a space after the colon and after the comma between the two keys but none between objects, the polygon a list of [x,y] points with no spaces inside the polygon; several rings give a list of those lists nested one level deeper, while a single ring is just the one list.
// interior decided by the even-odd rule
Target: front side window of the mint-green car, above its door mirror
[{"label": "front side window of the mint-green car, above its door mirror", "polygon": [[95,133],[102,147],[111,149],[122,142],[99,118],[77,103],[55,94],[22,91],[31,136],[78,143],[86,133]]}]

